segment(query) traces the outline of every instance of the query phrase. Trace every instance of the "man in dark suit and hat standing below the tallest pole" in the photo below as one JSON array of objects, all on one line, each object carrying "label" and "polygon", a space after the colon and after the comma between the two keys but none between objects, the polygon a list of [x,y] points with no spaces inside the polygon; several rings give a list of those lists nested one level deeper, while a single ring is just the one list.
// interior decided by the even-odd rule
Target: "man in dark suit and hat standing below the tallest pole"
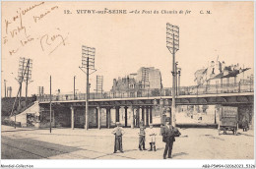
[{"label": "man in dark suit and hat standing below the tallest pole", "polygon": [[165,142],[165,149],[163,152],[163,159],[166,159],[166,154],[168,152],[168,158],[171,158],[171,151],[174,138],[174,127],[170,125],[169,122],[165,126],[162,127],[161,130],[162,141]]}]

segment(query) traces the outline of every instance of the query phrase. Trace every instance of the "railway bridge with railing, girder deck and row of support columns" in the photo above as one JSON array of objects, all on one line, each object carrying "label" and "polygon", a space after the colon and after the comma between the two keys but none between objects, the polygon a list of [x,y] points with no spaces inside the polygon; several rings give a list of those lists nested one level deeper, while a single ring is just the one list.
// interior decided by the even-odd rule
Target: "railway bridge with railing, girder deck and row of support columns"
[{"label": "railway bridge with railing, girder deck and row of support columns", "polygon": [[[123,127],[139,127],[140,123],[160,125],[160,118],[171,117],[171,88],[143,89],[138,93],[90,93],[89,127],[111,128],[115,122]],[[48,125],[50,95],[37,98],[41,127]],[[254,89],[252,84],[228,84],[179,87],[175,98],[177,112],[188,111],[184,106],[214,105],[215,118],[221,106],[238,107],[239,120],[246,116],[253,127]],[[86,94],[51,95],[53,126],[83,128],[85,125]],[[183,107],[182,107],[183,106]],[[178,108],[179,107],[179,108]],[[219,108],[218,108],[219,107]],[[187,112],[186,112],[187,113]],[[206,112],[205,112],[206,113]],[[176,123],[180,123],[176,121]],[[215,121],[208,123],[218,123]]]}]

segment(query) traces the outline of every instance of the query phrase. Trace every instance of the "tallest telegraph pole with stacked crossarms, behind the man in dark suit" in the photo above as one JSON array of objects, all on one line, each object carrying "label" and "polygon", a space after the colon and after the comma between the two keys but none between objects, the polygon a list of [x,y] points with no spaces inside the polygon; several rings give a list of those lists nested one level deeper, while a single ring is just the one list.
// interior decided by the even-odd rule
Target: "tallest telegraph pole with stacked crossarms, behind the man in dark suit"
[{"label": "tallest telegraph pole with stacked crossarms, behind the man in dark suit", "polygon": [[176,126],[175,119],[175,53],[179,50],[179,27],[166,24],[166,47],[172,54],[172,105],[171,105],[171,124]]}]

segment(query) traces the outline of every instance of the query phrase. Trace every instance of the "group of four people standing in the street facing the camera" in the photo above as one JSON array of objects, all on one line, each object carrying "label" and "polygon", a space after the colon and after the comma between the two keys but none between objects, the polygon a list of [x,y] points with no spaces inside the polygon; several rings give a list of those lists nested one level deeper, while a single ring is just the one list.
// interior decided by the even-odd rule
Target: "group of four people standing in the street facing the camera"
[{"label": "group of four people standing in the street facing the camera", "polygon": [[[116,123],[116,128],[114,128],[112,134],[115,135],[114,140],[114,153],[119,150],[120,152],[123,151],[122,147],[122,136],[124,135],[124,130],[121,127],[121,123]],[[150,128],[146,129],[142,124],[140,124],[140,131],[138,133],[139,135],[139,149],[140,150],[147,150],[145,147],[146,144],[146,136],[147,136],[147,143],[150,144],[149,151],[157,151],[156,148],[156,136],[157,132],[156,129],[153,128],[153,124],[150,124]],[[171,152],[172,152],[172,146],[173,142],[175,141],[175,137],[179,137],[181,134],[179,131],[171,126],[169,123],[166,123],[166,125],[162,125],[160,128],[160,135],[162,136],[162,141],[165,142],[165,148],[163,151],[163,159],[166,159],[166,155],[168,158],[171,158]]]}]

